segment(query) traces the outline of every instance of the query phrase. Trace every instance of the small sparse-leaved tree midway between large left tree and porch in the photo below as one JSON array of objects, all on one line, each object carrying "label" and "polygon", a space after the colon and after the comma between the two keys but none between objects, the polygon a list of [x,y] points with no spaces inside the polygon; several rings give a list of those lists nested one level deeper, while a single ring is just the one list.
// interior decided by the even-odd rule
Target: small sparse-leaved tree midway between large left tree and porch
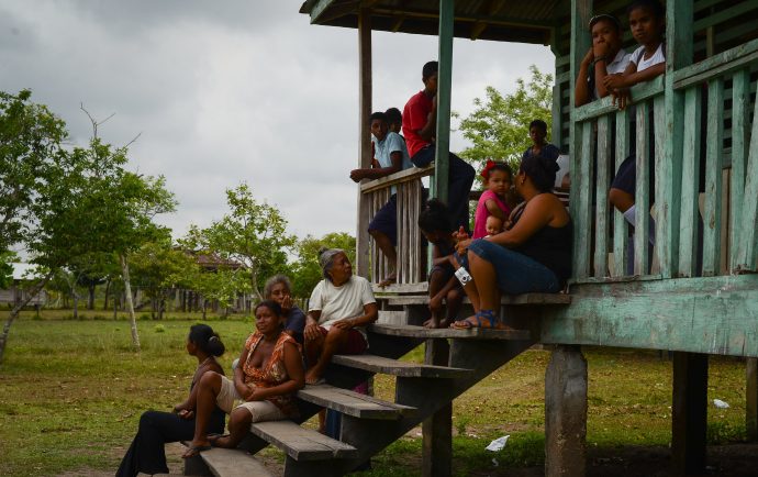
[{"label": "small sparse-leaved tree midway between large left tree and porch", "polygon": [[208,229],[190,228],[181,242],[189,249],[215,254],[242,264],[249,274],[250,290],[261,299],[260,288],[268,276],[287,266],[287,251],[296,237],[287,233],[287,220],[279,210],[259,203],[246,184],[226,189],[231,212]]}]

